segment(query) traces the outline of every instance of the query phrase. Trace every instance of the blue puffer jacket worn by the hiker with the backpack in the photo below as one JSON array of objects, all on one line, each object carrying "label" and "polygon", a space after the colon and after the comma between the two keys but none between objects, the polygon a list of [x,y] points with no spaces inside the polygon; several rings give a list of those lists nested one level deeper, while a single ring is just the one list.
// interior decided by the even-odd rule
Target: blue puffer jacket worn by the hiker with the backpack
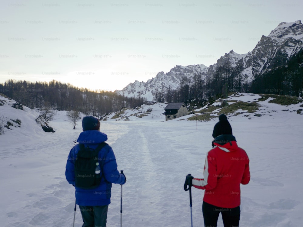
[{"label": "blue puffer jacket worn by the hiker with the backpack", "polygon": [[[84,144],[85,147],[92,149],[97,148],[98,144],[107,140],[107,135],[98,130],[88,130],[80,133],[78,143]],[[68,183],[75,185],[75,160],[80,150],[79,144],[75,145],[68,155],[66,163],[65,177]],[[108,150],[106,158],[103,158],[105,151]],[[125,183],[125,177],[117,170],[115,154],[108,145],[99,151],[99,160],[104,160],[101,170],[101,183],[94,189],[81,189],[75,187],[75,196],[77,204],[80,206],[104,206],[111,203],[112,183]],[[103,158],[103,159],[102,159]]]}]

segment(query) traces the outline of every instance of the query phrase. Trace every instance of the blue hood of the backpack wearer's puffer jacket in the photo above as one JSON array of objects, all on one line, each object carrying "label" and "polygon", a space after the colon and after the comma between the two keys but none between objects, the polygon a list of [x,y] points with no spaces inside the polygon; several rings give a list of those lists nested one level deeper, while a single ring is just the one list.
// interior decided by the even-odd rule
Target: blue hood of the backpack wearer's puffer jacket
[{"label": "blue hood of the backpack wearer's puffer jacket", "polygon": [[83,131],[77,139],[80,144],[100,144],[104,141],[107,141],[107,135],[98,130]]}]

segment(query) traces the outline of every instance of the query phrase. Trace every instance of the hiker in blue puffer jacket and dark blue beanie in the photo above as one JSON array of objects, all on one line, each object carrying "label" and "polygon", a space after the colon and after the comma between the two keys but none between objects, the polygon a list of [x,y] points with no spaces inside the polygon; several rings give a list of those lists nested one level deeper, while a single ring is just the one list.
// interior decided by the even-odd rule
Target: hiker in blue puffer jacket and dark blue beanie
[{"label": "hiker in blue puffer jacket and dark blue beanie", "polygon": [[[85,147],[95,149],[107,140],[107,135],[100,132],[100,122],[93,116],[85,116],[82,119],[83,132],[80,133],[77,142]],[[75,145],[68,155],[65,177],[68,183],[75,186],[75,160],[80,150],[79,144]],[[104,157],[106,149],[108,154]],[[124,184],[125,175],[117,170],[115,154],[108,145],[103,147],[98,154],[99,160],[105,160],[101,169],[101,183],[94,189],[82,189],[75,186],[76,203],[78,204],[82,219],[82,227],[102,226],[106,227],[108,204],[111,203],[112,183]]]}]

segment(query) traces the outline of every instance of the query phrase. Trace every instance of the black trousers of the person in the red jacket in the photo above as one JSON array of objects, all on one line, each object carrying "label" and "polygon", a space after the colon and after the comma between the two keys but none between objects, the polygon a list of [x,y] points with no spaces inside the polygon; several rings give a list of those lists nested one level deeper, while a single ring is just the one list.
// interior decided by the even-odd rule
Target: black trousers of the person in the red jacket
[{"label": "black trousers of the person in the red jacket", "polygon": [[224,227],[238,227],[240,221],[240,206],[235,208],[222,208],[203,202],[202,212],[205,227],[217,227],[221,212]]}]

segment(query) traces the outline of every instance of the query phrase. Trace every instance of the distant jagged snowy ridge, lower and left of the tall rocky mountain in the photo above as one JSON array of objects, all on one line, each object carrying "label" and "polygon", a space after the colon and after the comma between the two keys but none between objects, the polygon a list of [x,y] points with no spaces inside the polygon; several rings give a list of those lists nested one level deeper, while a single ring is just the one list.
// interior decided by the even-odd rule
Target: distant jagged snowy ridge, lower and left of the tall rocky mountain
[{"label": "distant jagged snowy ridge, lower and left of the tall rocky mountain", "polygon": [[154,78],[149,79],[147,82],[139,82],[136,80],[134,83],[128,84],[122,90],[117,90],[115,92],[127,97],[140,96],[146,98],[148,101],[152,101],[155,92],[161,91],[162,89],[165,91],[169,86],[171,86],[171,89],[178,88],[180,81],[184,76],[192,77],[195,74],[201,74],[203,79],[205,79],[207,71],[208,67],[202,64],[188,66],[177,65],[168,73],[164,73],[163,71],[157,73]]}]

